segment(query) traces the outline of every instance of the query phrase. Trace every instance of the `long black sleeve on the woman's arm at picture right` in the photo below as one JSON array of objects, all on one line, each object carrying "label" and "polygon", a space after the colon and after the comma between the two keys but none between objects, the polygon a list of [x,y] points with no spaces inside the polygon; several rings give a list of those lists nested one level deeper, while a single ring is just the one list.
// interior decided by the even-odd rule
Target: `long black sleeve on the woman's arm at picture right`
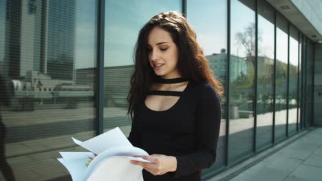
[{"label": "long black sleeve on the woman's arm at picture right", "polygon": [[198,150],[193,154],[175,156],[177,170],[174,172],[173,179],[211,167],[215,162],[221,121],[220,98],[208,83],[198,88],[195,94],[197,94],[195,123]]}]

